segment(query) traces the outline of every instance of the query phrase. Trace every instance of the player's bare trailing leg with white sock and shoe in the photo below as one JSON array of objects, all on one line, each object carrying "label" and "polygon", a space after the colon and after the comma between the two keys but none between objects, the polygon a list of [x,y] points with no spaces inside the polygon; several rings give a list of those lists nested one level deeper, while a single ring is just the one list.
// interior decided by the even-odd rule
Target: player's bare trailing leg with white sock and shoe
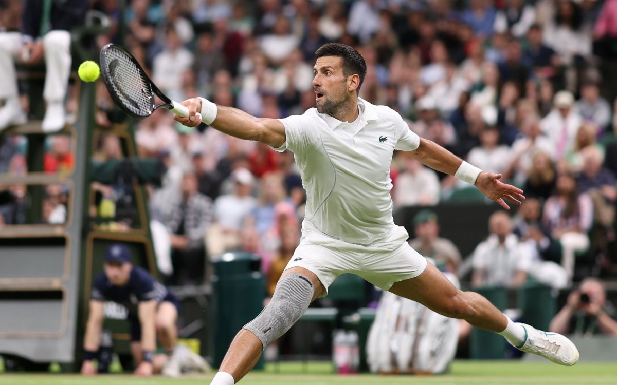
[{"label": "player's bare trailing leg with white sock and shoe", "polygon": [[542,355],[561,365],[578,362],[578,350],[568,338],[512,322],[480,294],[455,288],[432,264],[427,264],[417,277],[394,283],[390,291],[420,302],[439,314],[461,318],[478,328],[502,334],[522,351]]}]

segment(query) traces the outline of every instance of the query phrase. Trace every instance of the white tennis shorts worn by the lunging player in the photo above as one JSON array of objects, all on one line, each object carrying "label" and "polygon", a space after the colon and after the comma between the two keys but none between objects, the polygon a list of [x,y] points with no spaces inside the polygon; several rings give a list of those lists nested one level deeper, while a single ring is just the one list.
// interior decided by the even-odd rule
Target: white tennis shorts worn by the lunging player
[{"label": "white tennis shorts worn by the lunging player", "polygon": [[426,258],[406,241],[397,248],[380,251],[350,244],[346,247],[338,242],[338,246],[323,246],[303,239],[285,270],[304,267],[313,272],[325,287],[326,296],[328,287],[341,274],[359,275],[378,288],[389,290],[395,282],[418,277],[426,269]]}]

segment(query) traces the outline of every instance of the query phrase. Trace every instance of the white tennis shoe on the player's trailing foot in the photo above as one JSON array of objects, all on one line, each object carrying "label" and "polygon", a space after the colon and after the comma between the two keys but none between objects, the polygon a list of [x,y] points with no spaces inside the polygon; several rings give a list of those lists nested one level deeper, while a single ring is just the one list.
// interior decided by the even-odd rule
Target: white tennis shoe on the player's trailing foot
[{"label": "white tennis shoe on the player's trailing foot", "polygon": [[578,362],[579,352],[572,341],[559,333],[537,330],[526,323],[523,326],[526,339],[523,345],[516,346],[523,352],[541,355],[559,365],[572,366]]}]

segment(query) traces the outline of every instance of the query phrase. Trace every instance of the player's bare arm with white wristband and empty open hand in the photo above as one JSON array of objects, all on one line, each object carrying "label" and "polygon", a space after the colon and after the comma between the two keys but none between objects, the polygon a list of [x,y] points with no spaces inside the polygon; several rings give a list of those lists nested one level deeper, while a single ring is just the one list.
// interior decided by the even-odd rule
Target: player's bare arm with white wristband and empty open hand
[{"label": "player's bare arm with white wristband and empty open hand", "polygon": [[478,187],[478,190],[487,198],[494,200],[507,210],[510,209],[510,206],[506,201],[520,205],[521,200],[525,199],[523,190],[499,180],[502,174],[474,168],[471,164],[458,158],[440,145],[431,142],[431,140],[420,139],[420,146],[410,154],[420,163],[432,169],[453,175]]}]

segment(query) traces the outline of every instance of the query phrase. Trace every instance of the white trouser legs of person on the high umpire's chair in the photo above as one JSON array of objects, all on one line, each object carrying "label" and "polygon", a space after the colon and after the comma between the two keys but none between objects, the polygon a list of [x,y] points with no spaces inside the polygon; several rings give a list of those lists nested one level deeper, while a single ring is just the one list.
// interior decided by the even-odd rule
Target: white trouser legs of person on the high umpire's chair
[{"label": "white trouser legs of person on the high umpire's chair", "polygon": [[[71,35],[68,31],[49,31],[43,36],[46,66],[43,99],[61,102],[67,94],[68,76],[71,70]],[[0,99],[18,96],[15,60],[22,51],[22,34],[0,33]]]}]

